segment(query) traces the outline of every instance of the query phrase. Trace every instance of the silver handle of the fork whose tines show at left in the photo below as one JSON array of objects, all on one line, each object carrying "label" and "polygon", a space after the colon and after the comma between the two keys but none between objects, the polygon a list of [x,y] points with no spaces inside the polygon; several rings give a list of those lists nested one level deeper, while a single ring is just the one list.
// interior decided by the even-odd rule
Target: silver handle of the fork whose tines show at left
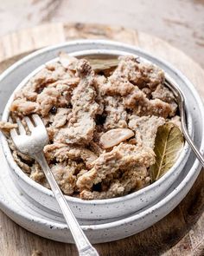
[{"label": "silver handle of the fork whose tines show at left", "polygon": [[54,197],[57,200],[61,208],[61,212],[63,213],[67,222],[67,226],[73,235],[73,240],[75,241],[80,256],[99,256],[99,253],[97,253],[96,249],[91,245],[89,240],[87,240],[86,234],[81,229],[79,222],[76,220],[71,208],[68,206],[65,196],[61,192],[61,188],[54,179],[54,174],[48,167],[48,163],[43,152],[41,151],[35,154],[34,158],[36,161],[38,161],[42,170],[44,171],[44,174],[46,175],[48,183],[54,193]]}]

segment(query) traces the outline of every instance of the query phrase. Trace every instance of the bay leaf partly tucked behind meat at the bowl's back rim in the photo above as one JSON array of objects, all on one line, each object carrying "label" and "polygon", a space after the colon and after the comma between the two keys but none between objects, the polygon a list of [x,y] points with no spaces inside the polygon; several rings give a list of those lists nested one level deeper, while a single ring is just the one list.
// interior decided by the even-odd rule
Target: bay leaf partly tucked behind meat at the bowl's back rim
[{"label": "bay leaf partly tucked behind meat at the bowl's back rim", "polygon": [[119,63],[119,60],[117,58],[95,59],[87,57],[86,60],[90,62],[92,69],[95,71],[116,68]]}]

